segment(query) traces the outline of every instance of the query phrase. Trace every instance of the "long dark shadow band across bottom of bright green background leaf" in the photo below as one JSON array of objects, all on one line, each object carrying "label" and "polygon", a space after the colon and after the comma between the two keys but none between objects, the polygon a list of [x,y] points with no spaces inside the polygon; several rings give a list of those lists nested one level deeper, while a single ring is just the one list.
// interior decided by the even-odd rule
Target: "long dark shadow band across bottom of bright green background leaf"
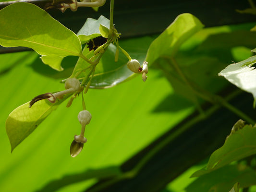
[{"label": "long dark shadow band across bottom of bright green background leaf", "polygon": [[52,180],[47,185],[45,185],[43,188],[39,189],[36,192],[55,192],[61,189],[62,187],[75,184],[81,181],[86,181],[93,178],[109,179],[120,174],[120,168],[116,166],[99,169],[88,169],[81,173],[65,175],[61,179]]}]

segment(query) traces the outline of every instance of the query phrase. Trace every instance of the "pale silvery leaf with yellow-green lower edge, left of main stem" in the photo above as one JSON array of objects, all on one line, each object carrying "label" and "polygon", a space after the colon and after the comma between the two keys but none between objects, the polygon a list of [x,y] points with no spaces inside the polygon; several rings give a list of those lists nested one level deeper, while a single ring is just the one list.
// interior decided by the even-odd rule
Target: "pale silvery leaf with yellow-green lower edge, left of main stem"
[{"label": "pale silvery leaf with yellow-green lower edge, left of main stem", "polygon": [[86,41],[100,36],[100,25],[110,26],[110,20],[102,15],[98,18],[98,20],[87,18],[85,24],[77,33],[81,43],[84,44]]}]

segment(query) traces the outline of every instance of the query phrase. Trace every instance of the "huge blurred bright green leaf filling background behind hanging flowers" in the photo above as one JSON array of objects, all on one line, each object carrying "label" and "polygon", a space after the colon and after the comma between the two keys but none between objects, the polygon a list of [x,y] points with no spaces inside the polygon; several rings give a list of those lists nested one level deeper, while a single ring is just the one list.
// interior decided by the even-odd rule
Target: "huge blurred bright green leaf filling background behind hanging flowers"
[{"label": "huge blurred bright green leaf filling background behind hanging flowers", "polygon": [[[136,41],[131,41],[131,44],[126,42],[126,45],[133,48],[132,42]],[[77,115],[82,110],[81,95],[73,101],[70,108],[65,107],[64,101],[40,124],[39,129],[10,154],[10,144],[3,128],[8,114],[17,105],[38,94],[61,90],[63,87],[58,81],[61,78],[52,79],[29,67],[33,62],[39,65],[40,60],[24,59],[22,53],[17,54],[21,54],[21,60],[13,62],[19,62],[19,65],[0,75],[1,84],[6,85],[2,87],[4,94],[0,95],[0,186],[3,192],[15,192],[17,186],[19,192],[40,191],[58,180],[62,187],[60,192],[84,191],[103,176],[101,170],[104,170],[105,176],[113,173],[113,169],[107,168],[121,165],[192,111],[192,108],[183,108],[176,112],[155,113],[154,108],[172,90],[164,77],[151,70],[151,78],[146,84],[138,77],[122,86],[103,90],[91,89],[85,94],[86,109],[92,114],[92,120],[85,129],[88,141],[76,158],[70,157],[69,147],[74,134],[81,132],[81,125],[77,120]],[[37,57],[36,53],[31,54],[33,58]],[[0,58],[3,56],[0,55]],[[181,100],[172,101],[178,106],[182,105]],[[92,179],[83,182],[83,179],[89,178],[89,172]],[[72,175],[73,180],[66,182],[65,176],[71,178]],[[65,183],[70,186],[65,187]]]}]

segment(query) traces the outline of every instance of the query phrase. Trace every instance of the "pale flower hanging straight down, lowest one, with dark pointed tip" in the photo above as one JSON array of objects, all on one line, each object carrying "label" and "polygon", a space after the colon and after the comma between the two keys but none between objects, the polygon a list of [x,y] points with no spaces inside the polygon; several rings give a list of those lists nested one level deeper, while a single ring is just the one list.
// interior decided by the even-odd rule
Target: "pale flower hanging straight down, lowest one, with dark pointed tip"
[{"label": "pale flower hanging straight down, lowest one, with dark pointed tip", "polygon": [[87,139],[84,137],[85,125],[90,123],[90,121],[92,119],[92,115],[89,111],[83,110],[83,111],[79,112],[77,118],[78,118],[80,124],[82,125],[82,129],[81,129],[80,135],[74,136],[74,140],[70,146],[70,155],[72,157],[77,156],[82,151],[84,144],[87,142]]}]

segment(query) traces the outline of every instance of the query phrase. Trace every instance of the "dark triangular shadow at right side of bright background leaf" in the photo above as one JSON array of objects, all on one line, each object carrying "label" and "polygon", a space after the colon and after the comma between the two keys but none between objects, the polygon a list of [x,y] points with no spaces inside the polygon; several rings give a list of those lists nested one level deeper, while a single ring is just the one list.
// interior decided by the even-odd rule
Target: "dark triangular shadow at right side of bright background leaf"
[{"label": "dark triangular shadow at right side of bright background leaf", "polygon": [[189,102],[187,99],[185,99],[183,96],[180,96],[178,94],[170,94],[164,98],[156,108],[154,108],[153,112],[175,112],[180,111],[185,108],[192,107],[194,104],[192,102]]}]

